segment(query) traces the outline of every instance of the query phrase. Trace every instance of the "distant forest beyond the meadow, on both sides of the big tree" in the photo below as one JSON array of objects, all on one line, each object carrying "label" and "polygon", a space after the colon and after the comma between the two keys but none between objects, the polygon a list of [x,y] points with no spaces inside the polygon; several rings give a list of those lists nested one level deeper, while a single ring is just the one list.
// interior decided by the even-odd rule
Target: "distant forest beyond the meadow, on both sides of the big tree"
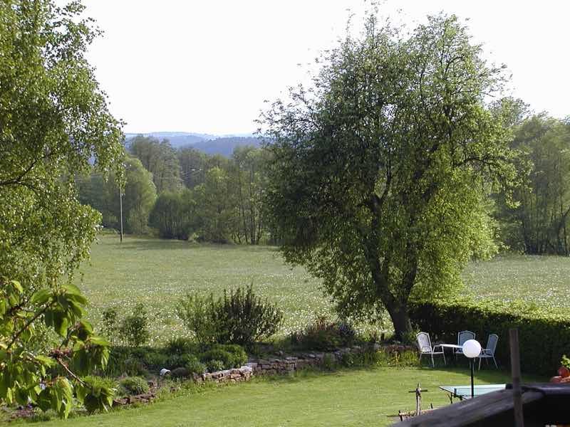
[{"label": "distant forest beyond the meadow, on both sides of the big tree", "polygon": [[[499,250],[570,254],[570,120],[532,114],[504,100],[519,174],[510,189],[487,192],[489,227]],[[271,146],[256,137],[161,132],[127,135],[123,224],[127,233],[216,243],[276,243],[264,215]],[[119,228],[115,176],[78,179],[83,204]]]}]

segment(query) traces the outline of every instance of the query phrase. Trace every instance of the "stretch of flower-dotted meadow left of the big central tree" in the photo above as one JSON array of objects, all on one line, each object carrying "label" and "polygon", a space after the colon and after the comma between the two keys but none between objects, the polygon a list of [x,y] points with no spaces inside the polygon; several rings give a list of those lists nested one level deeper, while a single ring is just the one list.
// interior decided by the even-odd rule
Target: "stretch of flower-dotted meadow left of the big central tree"
[{"label": "stretch of flower-dotted meadow left of the big central tree", "polygon": [[[254,290],[285,312],[281,334],[304,327],[314,315],[330,311],[318,280],[303,268],[290,268],[275,248],[198,245],[182,241],[100,236],[90,265],[81,268],[95,325],[107,307],[130,312],[143,302],[150,312],[151,344],[184,335],[175,303],[187,292],[221,294],[224,288],[253,283]],[[78,279],[79,282],[79,279]]]}]

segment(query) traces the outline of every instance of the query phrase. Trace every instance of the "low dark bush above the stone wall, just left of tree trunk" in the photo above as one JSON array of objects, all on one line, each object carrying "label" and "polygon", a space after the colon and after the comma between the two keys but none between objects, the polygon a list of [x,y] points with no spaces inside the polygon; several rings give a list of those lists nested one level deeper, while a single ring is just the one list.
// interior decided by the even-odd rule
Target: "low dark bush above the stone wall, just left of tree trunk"
[{"label": "low dark bush above the stone wall, just left of tree trunk", "polygon": [[346,322],[330,322],[325,316],[318,316],[302,332],[291,336],[291,342],[301,349],[323,352],[351,346],[356,333]]}]

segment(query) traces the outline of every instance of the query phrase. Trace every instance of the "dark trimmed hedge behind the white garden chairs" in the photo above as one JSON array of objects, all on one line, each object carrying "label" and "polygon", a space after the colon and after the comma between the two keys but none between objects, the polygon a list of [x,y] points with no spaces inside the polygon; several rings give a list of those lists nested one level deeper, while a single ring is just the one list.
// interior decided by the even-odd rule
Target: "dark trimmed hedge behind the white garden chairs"
[{"label": "dark trimmed hedge behind the white garden chairs", "polygon": [[485,347],[489,334],[499,335],[495,359],[503,367],[510,366],[509,328],[516,327],[521,369],[529,374],[552,376],[562,354],[570,354],[570,316],[524,302],[412,302],[410,317],[416,327],[430,333],[432,342],[455,344],[457,332],[470,330]]}]

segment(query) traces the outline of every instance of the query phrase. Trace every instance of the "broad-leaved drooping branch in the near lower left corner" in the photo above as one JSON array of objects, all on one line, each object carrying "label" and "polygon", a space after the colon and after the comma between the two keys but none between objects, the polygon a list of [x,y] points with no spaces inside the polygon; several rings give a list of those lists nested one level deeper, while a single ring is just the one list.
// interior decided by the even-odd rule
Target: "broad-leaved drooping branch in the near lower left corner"
[{"label": "broad-leaved drooping branch in the near lower left corner", "polygon": [[[51,408],[66,418],[76,392],[78,401],[88,399],[89,408],[107,408],[105,402],[108,396],[112,399],[113,391],[92,388],[70,370],[86,374],[104,368],[108,362],[108,342],[95,336],[93,327],[81,319],[86,302],[74,285],[38,290],[26,302],[19,282],[0,279],[1,401],[26,405],[29,399],[43,411]],[[27,347],[36,334],[34,322],[40,321],[56,332],[61,346],[48,354],[34,355]],[[56,366],[61,369],[53,369]],[[70,374],[71,380],[58,372]]]}]

